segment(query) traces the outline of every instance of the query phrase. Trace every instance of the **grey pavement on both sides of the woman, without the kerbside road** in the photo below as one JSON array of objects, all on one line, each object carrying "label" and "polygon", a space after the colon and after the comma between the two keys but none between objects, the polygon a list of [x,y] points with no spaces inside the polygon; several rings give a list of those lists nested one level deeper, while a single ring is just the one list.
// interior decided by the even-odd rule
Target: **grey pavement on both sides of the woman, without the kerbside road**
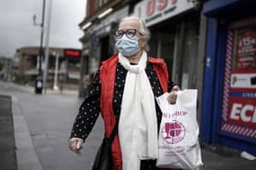
[{"label": "grey pavement on both sides of the woman, without the kerbside road", "polygon": [[[69,133],[82,102],[76,93],[64,91],[60,95],[48,90],[47,95],[35,95],[32,87],[0,82],[0,95],[16,97],[43,170],[91,170],[103,137],[103,122],[99,117],[80,155],[69,151]],[[216,146],[202,145],[202,157],[205,170],[252,170],[256,166],[255,160]],[[36,170],[29,162],[20,169]]]}]

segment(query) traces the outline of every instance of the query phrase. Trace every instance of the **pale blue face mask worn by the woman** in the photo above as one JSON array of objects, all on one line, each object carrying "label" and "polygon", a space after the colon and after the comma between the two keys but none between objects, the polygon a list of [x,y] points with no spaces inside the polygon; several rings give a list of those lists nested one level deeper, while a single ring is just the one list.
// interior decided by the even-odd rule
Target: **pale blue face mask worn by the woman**
[{"label": "pale blue face mask worn by the woman", "polygon": [[128,38],[126,35],[123,35],[122,38],[116,40],[115,46],[125,57],[135,55],[140,50],[137,36]]}]

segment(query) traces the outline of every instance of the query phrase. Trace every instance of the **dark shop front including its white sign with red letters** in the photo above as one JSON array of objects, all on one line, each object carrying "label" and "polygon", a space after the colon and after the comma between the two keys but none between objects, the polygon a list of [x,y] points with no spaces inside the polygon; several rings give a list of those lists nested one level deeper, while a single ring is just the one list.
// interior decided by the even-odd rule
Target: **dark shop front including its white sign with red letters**
[{"label": "dark shop front including its white sign with red letters", "polygon": [[151,32],[148,54],[163,58],[171,80],[183,89],[197,87],[200,11],[195,2],[144,0],[134,7]]}]

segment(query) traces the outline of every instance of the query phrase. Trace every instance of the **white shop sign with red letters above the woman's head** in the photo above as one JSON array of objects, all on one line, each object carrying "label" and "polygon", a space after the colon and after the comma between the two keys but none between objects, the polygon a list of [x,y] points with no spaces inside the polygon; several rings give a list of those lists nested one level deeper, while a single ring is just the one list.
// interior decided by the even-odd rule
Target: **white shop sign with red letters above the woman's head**
[{"label": "white shop sign with red letters above the woman's head", "polygon": [[139,16],[145,25],[150,26],[192,8],[192,0],[144,0],[135,5],[133,15]]}]

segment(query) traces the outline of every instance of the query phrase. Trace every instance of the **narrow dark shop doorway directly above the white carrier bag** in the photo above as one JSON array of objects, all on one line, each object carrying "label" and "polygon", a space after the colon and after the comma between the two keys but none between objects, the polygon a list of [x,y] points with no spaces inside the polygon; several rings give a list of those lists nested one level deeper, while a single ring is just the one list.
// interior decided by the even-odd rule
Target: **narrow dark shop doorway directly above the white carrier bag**
[{"label": "narrow dark shop doorway directly above the white carrier bag", "polygon": [[182,89],[197,88],[199,21],[185,20],[176,28],[175,81]]}]

